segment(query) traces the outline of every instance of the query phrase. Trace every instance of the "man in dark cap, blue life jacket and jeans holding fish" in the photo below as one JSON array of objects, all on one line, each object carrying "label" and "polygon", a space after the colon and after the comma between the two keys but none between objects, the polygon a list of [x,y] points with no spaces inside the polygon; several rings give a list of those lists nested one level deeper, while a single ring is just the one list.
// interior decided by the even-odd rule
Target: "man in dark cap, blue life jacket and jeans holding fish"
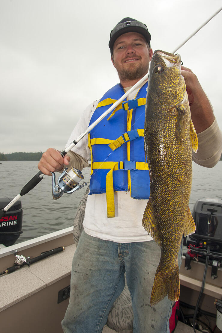
[{"label": "man in dark cap, blue life jacket and jeans holding fish", "polygon": [[[124,18],[111,31],[111,60],[120,84],[85,109],[67,145],[148,73],[153,55],[150,40],[146,25],[132,18]],[[198,153],[193,154],[193,159],[212,167],[220,158],[221,133],[196,76],[185,67],[182,74],[192,120],[200,133]],[[141,84],[128,100],[146,97],[146,88],[147,82]],[[149,171],[144,163],[143,136],[138,133],[132,138],[136,128],[144,127],[144,110],[144,104],[131,110],[121,108],[108,120],[103,119],[90,131],[88,139],[84,137],[64,159],[55,149],[48,149],[39,162],[39,169],[50,175],[50,171],[60,171],[64,165],[82,169],[92,159],[84,231],[73,258],[69,306],[62,321],[65,333],[102,332],[124,288],[125,272],[132,297],[134,333],[169,332],[172,302],[165,297],[155,307],[150,306],[160,248],[142,227],[149,197]],[[124,135],[121,141],[126,132],[128,137]],[[212,141],[213,146],[209,144]],[[131,161],[141,162],[140,167],[132,170]]]}]

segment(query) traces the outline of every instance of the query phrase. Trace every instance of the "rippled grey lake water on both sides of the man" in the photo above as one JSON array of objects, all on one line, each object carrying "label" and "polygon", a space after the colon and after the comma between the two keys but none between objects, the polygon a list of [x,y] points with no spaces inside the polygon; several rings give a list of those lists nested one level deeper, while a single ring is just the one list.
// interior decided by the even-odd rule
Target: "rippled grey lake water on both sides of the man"
[{"label": "rippled grey lake water on both sides of the man", "polygon": [[[0,196],[14,198],[22,187],[38,172],[37,161],[7,161],[0,164]],[[90,178],[90,167],[82,170],[84,181]],[[59,173],[56,173],[56,182]],[[87,187],[87,186],[86,186]],[[73,225],[76,209],[86,187],[74,194],[63,194],[53,200],[51,177],[44,176],[39,184],[21,197],[23,233],[16,243],[45,235]],[[190,209],[203,197],[222,199],[222,161],[213,168],[198,166],[193,162],[193,183]]]}]

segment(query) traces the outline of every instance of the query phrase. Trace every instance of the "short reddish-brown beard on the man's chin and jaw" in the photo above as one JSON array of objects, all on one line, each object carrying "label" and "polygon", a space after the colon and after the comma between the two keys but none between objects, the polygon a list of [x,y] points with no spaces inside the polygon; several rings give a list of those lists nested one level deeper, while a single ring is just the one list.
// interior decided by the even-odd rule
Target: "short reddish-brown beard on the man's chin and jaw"
[{"label": "short reddish-brown beard on the man's chin and jaw", "polygon": [[127,69],[123,68],[122,66],[116,66],[116,70],[120,80],[122,81],[139,80],[148,73],[149,61],[146,64],[140,63],[139,66],[135,65],[136,64],[132,63]]}]

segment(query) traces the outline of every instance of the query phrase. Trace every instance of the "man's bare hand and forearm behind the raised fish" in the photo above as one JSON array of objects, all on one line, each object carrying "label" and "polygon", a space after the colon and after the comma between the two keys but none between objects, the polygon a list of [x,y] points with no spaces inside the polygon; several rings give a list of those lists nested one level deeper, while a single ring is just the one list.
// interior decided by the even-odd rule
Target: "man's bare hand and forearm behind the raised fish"
[{"label": "man's bare hand and forearm behind the raised fish", "polygon": [[191,118],[197,133],[203,132],[214,122],[213,108],[196,75],[184,66],[181,74],[187,87]]}]

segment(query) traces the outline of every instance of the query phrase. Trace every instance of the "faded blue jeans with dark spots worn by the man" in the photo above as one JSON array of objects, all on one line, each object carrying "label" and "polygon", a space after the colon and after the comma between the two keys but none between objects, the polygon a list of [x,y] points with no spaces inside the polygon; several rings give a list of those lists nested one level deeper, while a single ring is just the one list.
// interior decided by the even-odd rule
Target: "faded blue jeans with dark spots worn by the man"
[{"label": "faded blue jeans with dark spots worn by the man", "polygon": [[114,301],[124,289],[125,271],[134,333],[169,333],[172,302],[166,296],[150,306],[159,261],[160,247],[154,241],[115,243],[83,230],[72,262],[69,305],[62,320],[64,333],[102,332]]}]

